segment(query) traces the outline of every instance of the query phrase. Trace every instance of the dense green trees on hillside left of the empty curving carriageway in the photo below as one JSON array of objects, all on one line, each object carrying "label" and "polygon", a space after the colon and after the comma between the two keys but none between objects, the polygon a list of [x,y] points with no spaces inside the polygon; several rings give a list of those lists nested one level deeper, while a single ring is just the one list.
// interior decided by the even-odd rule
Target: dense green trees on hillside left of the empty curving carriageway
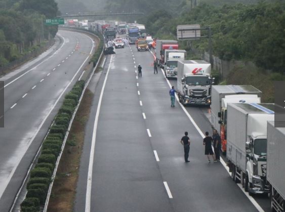
[{"label": "dense green trees on hillside left of the empty curving carriageway", "polygon": [[54,37],[57,26],[44,20],[57,13],[53,0],[0,0],[0,66]]}]

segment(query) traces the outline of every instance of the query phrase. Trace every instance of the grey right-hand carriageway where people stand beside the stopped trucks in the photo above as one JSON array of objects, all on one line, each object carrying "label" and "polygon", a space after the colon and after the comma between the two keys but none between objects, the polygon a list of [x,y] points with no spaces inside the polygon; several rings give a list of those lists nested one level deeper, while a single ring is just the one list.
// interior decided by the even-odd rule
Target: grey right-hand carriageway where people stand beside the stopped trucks
[{"label": "grey right-hand carriageway where people stand beside the stopped trucks", "polygon": [[[172,108],[175,81],[153,74],[152,62],[151,53],[135,46],[117,49],[91,86],[95,97],[74,211],[263,211],[231,180],[225,164],[209,164],[203,154],[209,108],[185,109],[177,101]],[[189,163],[180,144],[185,131]]]}]

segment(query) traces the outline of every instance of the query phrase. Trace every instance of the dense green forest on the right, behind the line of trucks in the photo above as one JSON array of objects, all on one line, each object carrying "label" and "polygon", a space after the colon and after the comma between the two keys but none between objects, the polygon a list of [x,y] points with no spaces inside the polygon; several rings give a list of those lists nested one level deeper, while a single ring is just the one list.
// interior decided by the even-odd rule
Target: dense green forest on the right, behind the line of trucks
[{"label": "dense green forest on the right, behind the line of trucks", "polygon": [[[141,20],[149,33],[159,38],[176,38],[176,26],[211,26],[214,55],[224,60],[248,60],[259,67],[283,72],[285,67],[285,3],[259,2],[252,5],[198,7],[173,16],[165,10],[152,12]],[[206,35],[206,34],[204,34]],[[207,50],[208,40],[191,42]]]}]

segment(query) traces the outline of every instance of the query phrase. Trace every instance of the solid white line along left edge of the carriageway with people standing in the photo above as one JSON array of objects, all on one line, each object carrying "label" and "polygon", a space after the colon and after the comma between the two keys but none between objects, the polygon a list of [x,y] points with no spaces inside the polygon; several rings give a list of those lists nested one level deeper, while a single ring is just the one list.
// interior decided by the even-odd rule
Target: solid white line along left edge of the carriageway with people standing
[{"label": "solid white line along left edge of the carriageway with people standing", "polygon": [[[113,55],[111,55],[110,61],[112,61]],[[85,212],[90,212],[91,210],[91,188],[92,188],[92,175],[93,175],[93,163],[94,163],[94,153],[95,153],[95,142],[96,142],[96,133],[97,133],[97,125],[99,119],[99,113],[101,108],[101,102],[103,99],[103,93],[106,86],[106,81],[108,78],[108,74],[110,71],[111,63],[109,63],[109,67],[106,73],[105,80],[103,82],[103,87],[101,90],[101,94],[99,97],[99,102],[97,106],[97,112],[94,121],[94,129],[92,135],[92,142],[91,142],[91,150],[90,150],[90,158],[89,158],[89,167],[88,167],[88,177],[87,177],[87,190],[86,190],[86,201],[85,201]]]}]

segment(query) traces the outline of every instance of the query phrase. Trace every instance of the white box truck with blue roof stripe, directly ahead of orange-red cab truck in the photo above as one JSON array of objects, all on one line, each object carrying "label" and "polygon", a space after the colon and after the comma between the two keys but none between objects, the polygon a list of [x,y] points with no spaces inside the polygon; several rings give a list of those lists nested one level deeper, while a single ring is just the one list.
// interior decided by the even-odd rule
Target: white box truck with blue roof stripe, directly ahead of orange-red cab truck
[{"label": "white box truck with blue roof stripe, directly ahead of orange-red cab truck", "polygon": [[274,104],[229,103],[227,164],[233,181],[245,191],[269,193],[266,181],[267,121],[274,121]]}]

